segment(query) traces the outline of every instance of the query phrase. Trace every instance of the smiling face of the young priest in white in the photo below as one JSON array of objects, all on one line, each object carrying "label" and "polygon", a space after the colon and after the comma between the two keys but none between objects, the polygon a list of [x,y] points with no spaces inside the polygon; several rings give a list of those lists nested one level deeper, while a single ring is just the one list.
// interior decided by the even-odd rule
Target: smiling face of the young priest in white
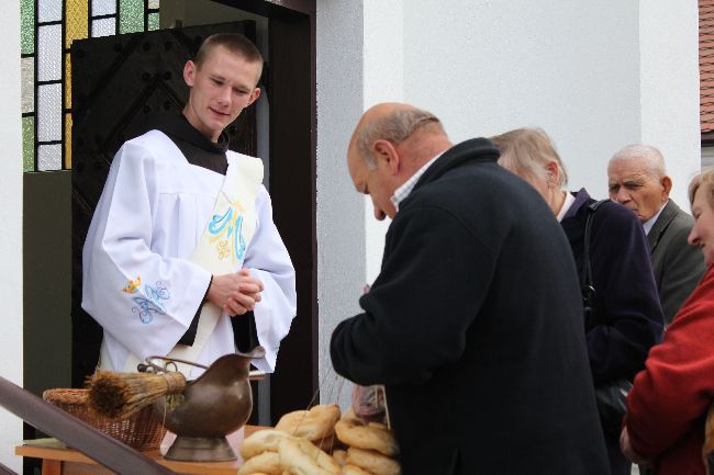
[{"label": "smiling face of the young priest in white", "polygon": [[200,66],[189,60],[183,68],[183,79],[191,88],[183,109],[189,123],[216,142],[221,132],[260,95],[256,88],[260,66],[223,46],[213,48]]}]

